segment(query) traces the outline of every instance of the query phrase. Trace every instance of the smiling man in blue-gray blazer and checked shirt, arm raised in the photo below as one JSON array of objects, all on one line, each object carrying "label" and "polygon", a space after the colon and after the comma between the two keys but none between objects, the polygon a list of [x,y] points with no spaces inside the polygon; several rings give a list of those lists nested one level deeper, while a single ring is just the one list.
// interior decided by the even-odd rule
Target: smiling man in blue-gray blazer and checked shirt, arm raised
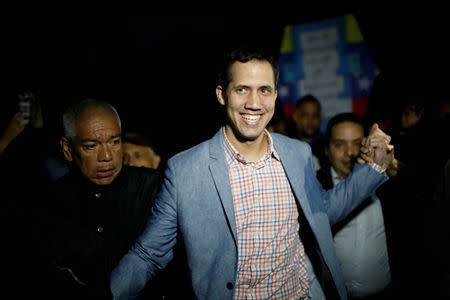
[{"label": "smiling man in blue-gray blazer and checked shirt, arm raised", "polygon": [[325,191],[309,145],[266,130],[277,80],[264,51],[227,54],[216,88],[226,124],[168,161],[146,230],[112,272],[116,299],[168,264],[178,233],[198,299],[346,299],[330,226],[387,180],[390,138],[375,125],[366,162]]}]

